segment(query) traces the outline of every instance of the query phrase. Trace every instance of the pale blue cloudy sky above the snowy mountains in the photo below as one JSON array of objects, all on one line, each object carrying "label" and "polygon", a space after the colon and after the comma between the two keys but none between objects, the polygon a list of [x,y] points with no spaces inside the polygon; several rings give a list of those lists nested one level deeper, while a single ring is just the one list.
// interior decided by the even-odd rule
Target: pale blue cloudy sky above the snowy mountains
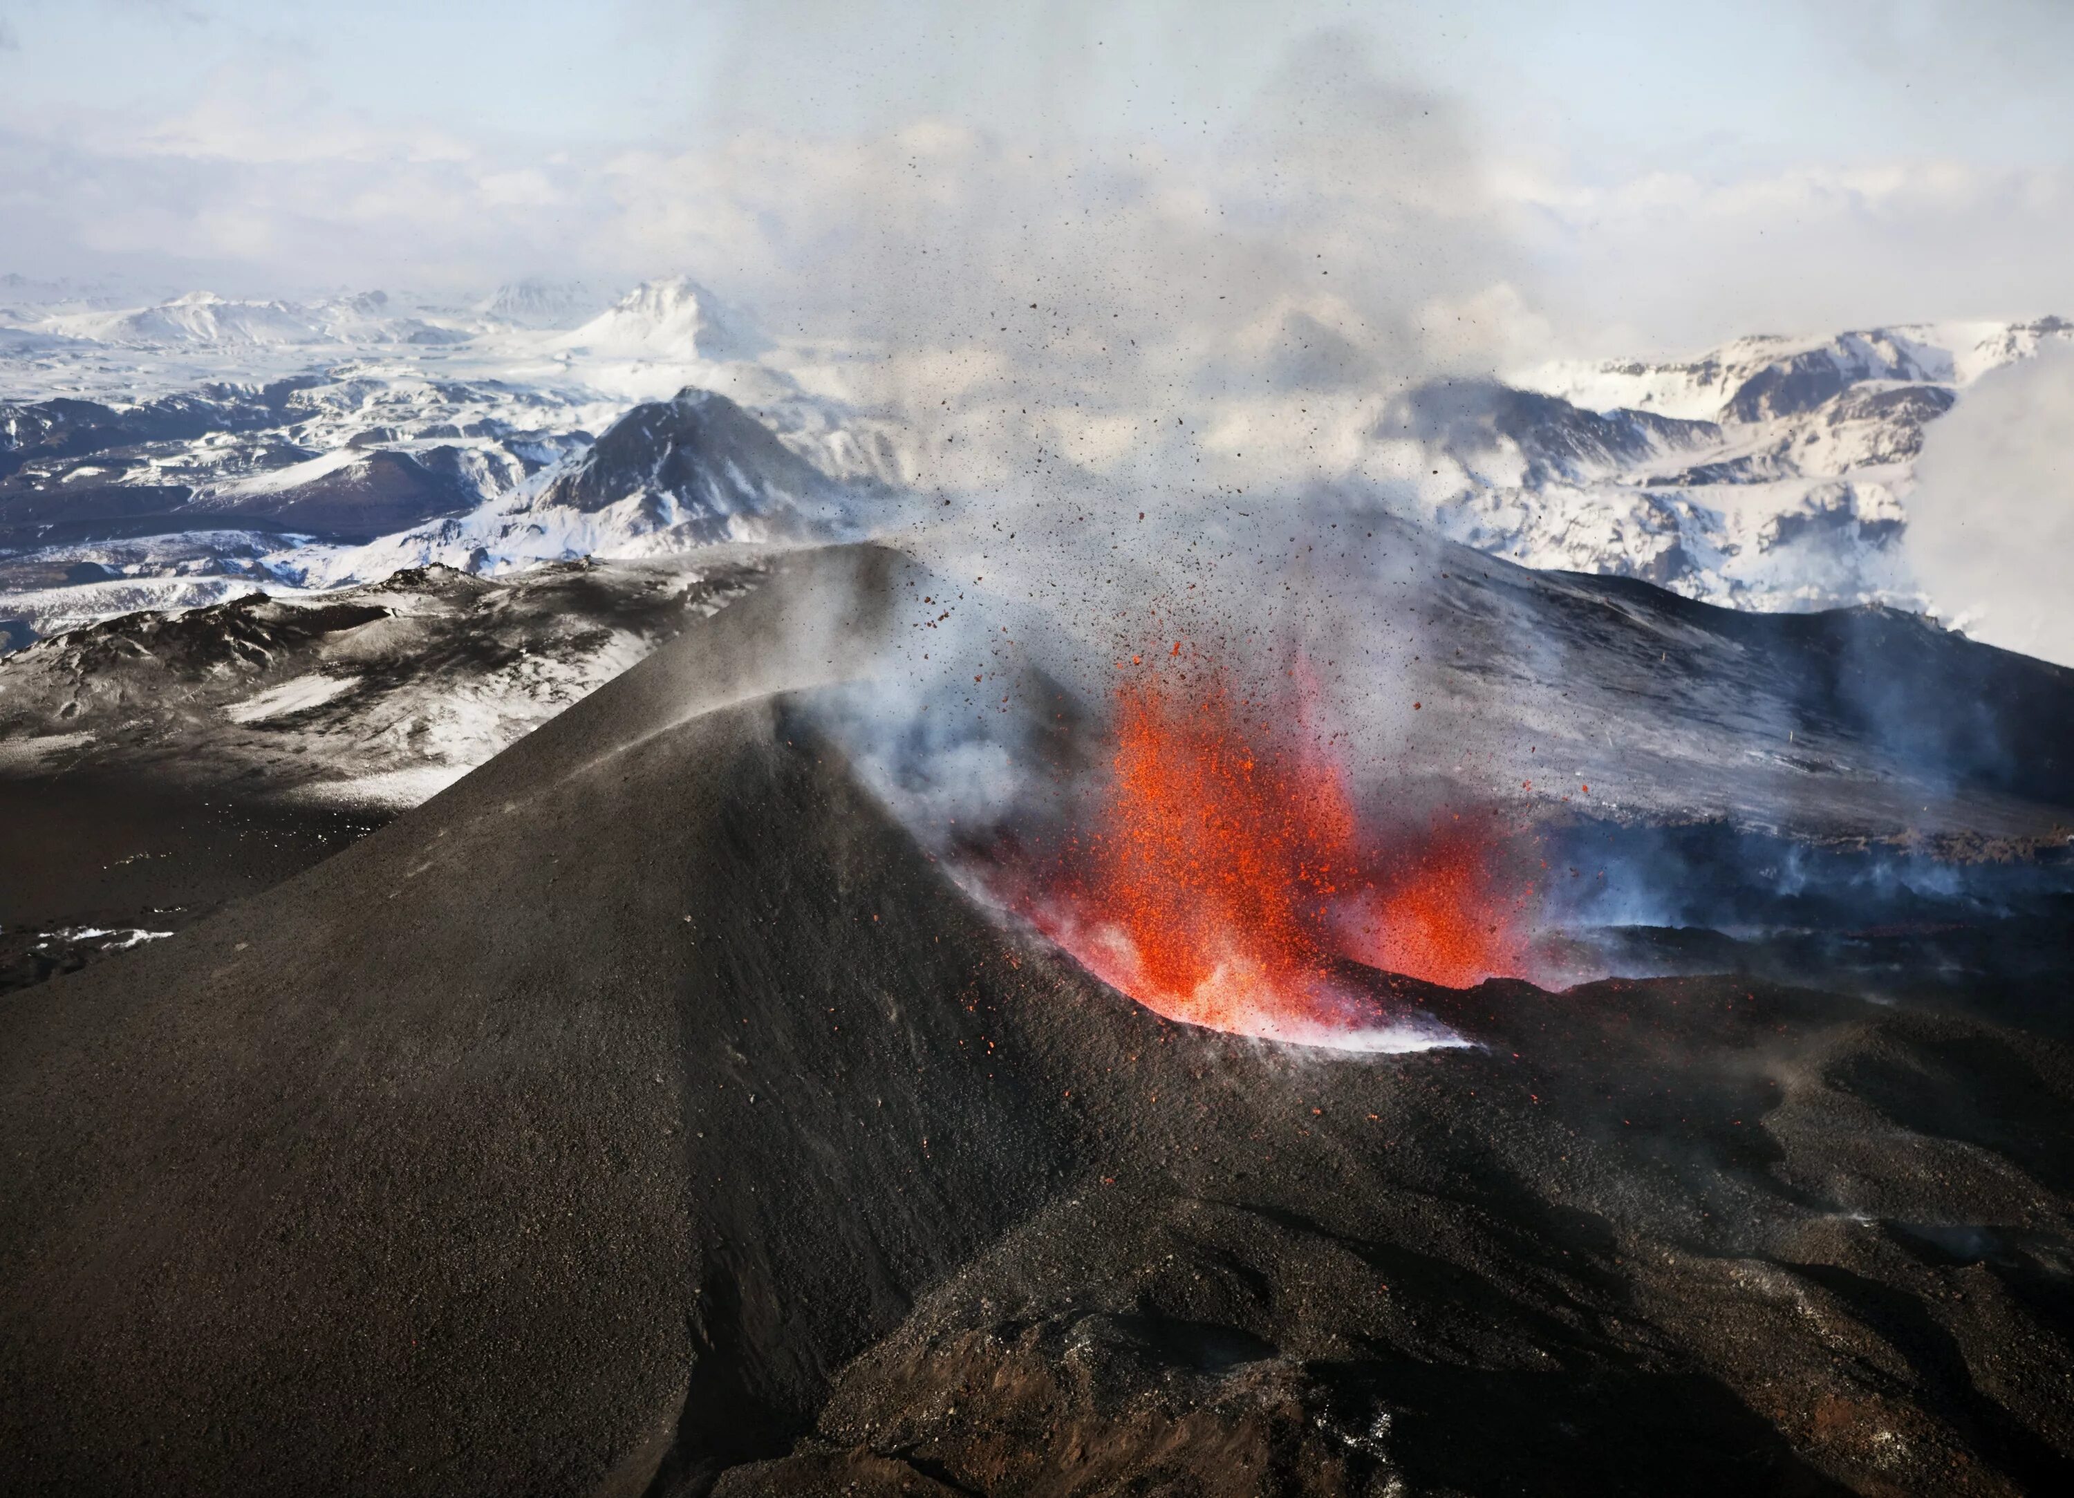
[{"label": "pale blue cloudy sky above the snowy mountains", "polygon": [[2074,311],[2070,41],[2059,0],[0,0],[0,272],[689,272],[871,322],[923,251],[989,261],[960,315],[1157,245],[1112,288],[1147,295],[1230,259],[1164,253],[1195,203],[1280,255],[1261,305],[1313,253],[1392,290],[1305,315],[1452,317],[1429,365],[2039,315]]}]

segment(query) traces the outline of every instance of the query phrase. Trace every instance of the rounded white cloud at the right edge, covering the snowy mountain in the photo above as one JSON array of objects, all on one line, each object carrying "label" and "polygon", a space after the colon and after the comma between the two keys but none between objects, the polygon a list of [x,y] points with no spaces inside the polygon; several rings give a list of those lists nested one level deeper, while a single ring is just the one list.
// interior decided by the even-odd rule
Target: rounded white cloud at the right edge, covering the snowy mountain
[{"label": "rounded white cloud at the right edge, covering the snowy mountain", "polygon": [[1929,427],[1908,562],[1974,639],[2074,666],[2074,349],[1981,378]]}]

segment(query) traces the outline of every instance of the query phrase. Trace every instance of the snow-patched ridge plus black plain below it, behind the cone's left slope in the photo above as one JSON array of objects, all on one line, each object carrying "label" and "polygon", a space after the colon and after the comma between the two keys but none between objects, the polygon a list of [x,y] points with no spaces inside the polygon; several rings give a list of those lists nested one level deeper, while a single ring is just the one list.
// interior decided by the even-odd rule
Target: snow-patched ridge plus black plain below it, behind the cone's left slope
[{"label": "snow-patched ridge plus black plain below it, behind the cone's left slope", "polygon": [[415,568],[127,614],[0,660],[0,992],[203,919],[489,759],[755,583]]}]

